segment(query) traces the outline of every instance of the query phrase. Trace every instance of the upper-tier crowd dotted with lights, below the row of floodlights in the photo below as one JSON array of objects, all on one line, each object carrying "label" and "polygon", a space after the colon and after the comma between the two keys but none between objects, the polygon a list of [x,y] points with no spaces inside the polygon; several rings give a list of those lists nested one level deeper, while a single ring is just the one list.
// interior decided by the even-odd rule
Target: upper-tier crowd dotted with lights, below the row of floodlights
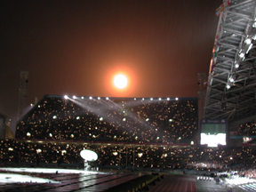
[{"label": "upper-tier crowd dotted with lights, below the row of floodlights", "polygon": [[37,106],[20,120],[16,138],[175,143],[198,132],[196,98],[45,96]]}]

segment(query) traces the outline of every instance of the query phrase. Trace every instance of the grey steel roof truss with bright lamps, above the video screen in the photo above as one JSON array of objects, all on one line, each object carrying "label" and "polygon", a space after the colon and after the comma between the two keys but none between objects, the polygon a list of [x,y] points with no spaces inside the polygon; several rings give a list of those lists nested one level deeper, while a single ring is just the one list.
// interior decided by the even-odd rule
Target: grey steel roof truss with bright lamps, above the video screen
[{"label": "grey steel roof truss with bright lamps, above the video screen", "polygon": [[204,106],[205,119],[256,116],[256,1],[220,5]]}]

